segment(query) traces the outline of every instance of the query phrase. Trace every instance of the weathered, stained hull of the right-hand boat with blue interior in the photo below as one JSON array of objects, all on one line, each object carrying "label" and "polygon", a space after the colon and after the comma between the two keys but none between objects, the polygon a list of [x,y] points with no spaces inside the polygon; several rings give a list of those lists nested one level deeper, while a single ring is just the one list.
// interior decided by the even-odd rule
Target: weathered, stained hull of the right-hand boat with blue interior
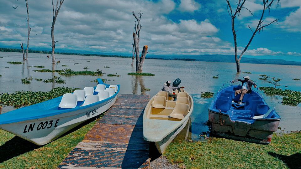
[{"label": "weathered, stained hull of the right-hand boat with blue interior", "polygon": [[[219,118],[221,118],[222,125]],[[280,119],[261,119],[253,123],[232,121],[229,115],[210,110],[209,121],[212,124],[211,132],[216,136],[260,144],[271,143],[273,132],[277,131],[280,123]]]}]

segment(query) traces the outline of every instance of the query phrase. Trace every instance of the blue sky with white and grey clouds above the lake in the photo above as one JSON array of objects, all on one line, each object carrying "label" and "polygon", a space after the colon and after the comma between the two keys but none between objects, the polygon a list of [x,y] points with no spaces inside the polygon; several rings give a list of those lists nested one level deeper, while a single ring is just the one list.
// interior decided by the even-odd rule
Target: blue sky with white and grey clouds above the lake
[{"label": "blue sky with white and grey clouds above the lake", "polygon": [[[51,0],[28,0],[30,47],[51,50]],[[231,0],[235,6],[236,0]],[[24,0],[0,0],[0,47],[27,40]],[[13,10],[12,6],[18,6]],[[236,19],[242,50],[261,14],[262,0],[247,0]],[[301,0],[281,0],[265,22],[279,19],[253,39],[246,55],[301,56]],[[225,0],[65,0],[55,23],[56,49],[131,54],[135,18],[143,12],[140,47],[152,55],[233,54],[231,18]],[[141,49],[142,50],[142,49]],[[140,50],[140,51],[141,51]],[[77,52],[75,51],[75,52]]]}]

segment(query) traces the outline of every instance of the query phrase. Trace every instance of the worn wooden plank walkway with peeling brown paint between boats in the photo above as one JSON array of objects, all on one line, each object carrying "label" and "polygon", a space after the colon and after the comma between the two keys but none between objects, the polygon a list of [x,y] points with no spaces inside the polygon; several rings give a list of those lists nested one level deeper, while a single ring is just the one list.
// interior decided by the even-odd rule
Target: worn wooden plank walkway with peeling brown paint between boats
[{"label": "worn wooden plank walkway with peeling brown paint between boats", "polygon": [[120,95],[58,168],[149,168],[143,110],[149,95]]}]

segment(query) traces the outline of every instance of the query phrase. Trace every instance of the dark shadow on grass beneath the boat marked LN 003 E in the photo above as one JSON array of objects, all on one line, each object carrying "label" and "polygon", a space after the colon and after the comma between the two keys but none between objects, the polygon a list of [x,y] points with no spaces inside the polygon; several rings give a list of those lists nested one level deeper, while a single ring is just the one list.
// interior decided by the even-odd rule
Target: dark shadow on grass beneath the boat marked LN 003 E
[{"label": "dark shadow on grass beneath the boat marked LN 003 E", "polygon": [[[103,115],[101,115],[101,116],[103,116]],[[85,121],[84,123],[82,123],[82,124],[74,127],[73,129],[67,131],[65,134],[63,134],[59,138],[64,137],[64,136],[72,133],[73,131],[76,131],[76,130],[80,129],[82,126],[91,123],[95,119],[96,118],[92,118],[90,120]],[[57,139],[59,139],[59,138],[57,138]],[[57,140],[57,139],[55,139],[55,140]],[[14,136],[12,139],[10,139],[9,141],[6,141],[2,146],[0,146],[0,163],[2,163],[4,161],[7,161],[7,160],[9,160],[13,157],[22,155],[26,152],[33,151],[34,149],[37,149],[37,148],[40,148],[40,147],[43,147],[43,146],[35,145],[34,143],[31,143],[27,140],[24,140],[24,139],[22,139],[18,136]]]}]

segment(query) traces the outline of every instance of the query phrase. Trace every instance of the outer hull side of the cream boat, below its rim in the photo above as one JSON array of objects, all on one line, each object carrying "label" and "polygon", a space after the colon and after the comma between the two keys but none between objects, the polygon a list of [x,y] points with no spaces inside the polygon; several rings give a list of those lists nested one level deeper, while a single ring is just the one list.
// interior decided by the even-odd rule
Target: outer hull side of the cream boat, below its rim
[{"label": "outer hull side of the cream boat, below its rim", "polygon": [[169,135],[164,137],[163,140],[155,142],[156,148],[160,154],[163,154],[167,146],[173,141],[173,139],[184,129],[189,119],[186,119],[180,127],[172,131]]}]

